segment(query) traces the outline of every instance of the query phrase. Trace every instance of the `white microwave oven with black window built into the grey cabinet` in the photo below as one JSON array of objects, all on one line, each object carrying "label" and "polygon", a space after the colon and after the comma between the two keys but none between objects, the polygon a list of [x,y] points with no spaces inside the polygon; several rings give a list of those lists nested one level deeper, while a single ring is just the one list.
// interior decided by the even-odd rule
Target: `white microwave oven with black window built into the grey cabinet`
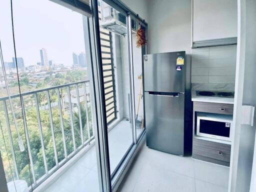
[{"label": "white microwave oven with black window built into the grey cabinet", "polygon": [[197,112],[196,135],[231,141],[232,115]]}]

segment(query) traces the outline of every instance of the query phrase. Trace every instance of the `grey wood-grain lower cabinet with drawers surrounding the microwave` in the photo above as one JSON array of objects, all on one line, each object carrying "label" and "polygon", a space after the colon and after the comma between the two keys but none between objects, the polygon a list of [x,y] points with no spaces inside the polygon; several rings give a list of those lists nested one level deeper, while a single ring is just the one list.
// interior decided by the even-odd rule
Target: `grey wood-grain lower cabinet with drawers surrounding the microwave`
[{"label": "grey wood-grain lower cabinet with drawers surrounding the microwave", "polygon": [[231,144],[201,139],[196,136],[196,112],[232,114],[233,104],[193,102],[192,157],[216,164],[229,166]]}]

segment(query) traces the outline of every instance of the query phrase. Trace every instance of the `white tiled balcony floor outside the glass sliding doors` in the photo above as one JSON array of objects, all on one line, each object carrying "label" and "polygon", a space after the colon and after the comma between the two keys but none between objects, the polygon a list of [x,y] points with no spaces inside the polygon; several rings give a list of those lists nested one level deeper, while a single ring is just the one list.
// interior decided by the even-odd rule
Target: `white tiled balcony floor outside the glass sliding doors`
[{"label": "white tiled balcony floor outside the glass sliding doors", "polygon": [[[137,134],[141,129],[136,129]],[[108,132],[110,171],[117,166],[130,144],[132,132],[129,121],[122,120]],[[69,167],[45,192],[96,192],[98,173],[95,146]]]}]

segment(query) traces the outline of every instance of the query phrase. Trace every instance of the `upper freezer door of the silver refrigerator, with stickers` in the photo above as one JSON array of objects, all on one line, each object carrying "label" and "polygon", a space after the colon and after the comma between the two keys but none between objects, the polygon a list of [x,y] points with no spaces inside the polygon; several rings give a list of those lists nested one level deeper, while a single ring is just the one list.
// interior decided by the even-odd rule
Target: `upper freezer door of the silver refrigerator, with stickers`
[{"label": "upper freezer door of the silver refrigerator, with stickers", "polygon": [[145,91],[184,92],[185,62],[179,63],[179,57],[185,51],[144,55]]}]

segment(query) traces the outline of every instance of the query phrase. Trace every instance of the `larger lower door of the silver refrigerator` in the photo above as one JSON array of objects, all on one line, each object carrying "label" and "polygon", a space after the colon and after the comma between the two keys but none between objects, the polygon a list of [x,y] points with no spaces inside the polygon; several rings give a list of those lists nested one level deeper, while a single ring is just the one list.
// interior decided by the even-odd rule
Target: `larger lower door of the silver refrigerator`
[{"label": "larger lower door of the silver refrigerator", "polygon": [[173,96],[145,92],[148,147],[172,154],[184,154],[184,96],[180,93]]}]

